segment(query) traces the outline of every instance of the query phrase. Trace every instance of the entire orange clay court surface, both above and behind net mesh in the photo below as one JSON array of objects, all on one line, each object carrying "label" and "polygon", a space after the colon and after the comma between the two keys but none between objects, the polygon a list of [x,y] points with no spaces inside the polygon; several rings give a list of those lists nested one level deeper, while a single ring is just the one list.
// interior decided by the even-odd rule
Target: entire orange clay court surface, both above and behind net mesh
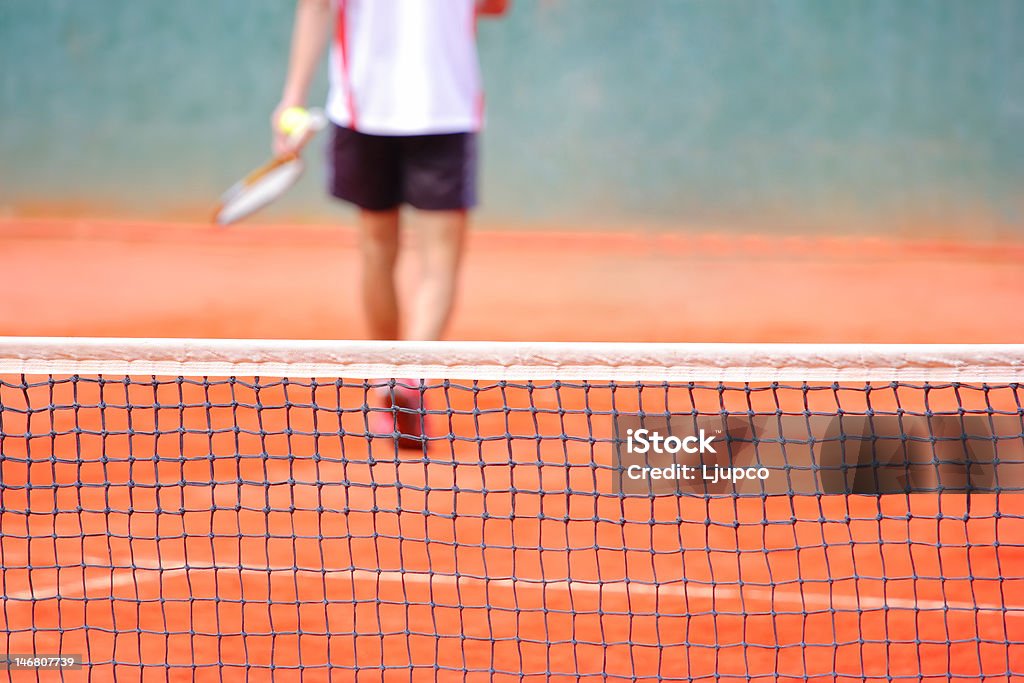
[{"label": "entire orange clay court surface, both above and behind net mesh", "polygon": [[[10,221],[0,249],[2,334],[364,334],[345,230]],[[1022,256],[481,231],[451,336],[1020,341]],[[396,453],[367,437],[358,383],[0,379],[0,646],[89,663],[14,681],[1024,672],[1020,496],[975,497],[970,514],[953,495],[622,499],[601,414],[636,411],[635,390],[434,386],[428,408],[455,414],[431,433],[452,437]],[[923,409],[920,391],[900,391],[899,405]],[[866,408],[858,391],[723,396],[729,410]],[[714,388],[645,400],[720,408]],[[1019,393],[929,400],[1012,412]],[[893,410],[897,396],[876,401]]]}]

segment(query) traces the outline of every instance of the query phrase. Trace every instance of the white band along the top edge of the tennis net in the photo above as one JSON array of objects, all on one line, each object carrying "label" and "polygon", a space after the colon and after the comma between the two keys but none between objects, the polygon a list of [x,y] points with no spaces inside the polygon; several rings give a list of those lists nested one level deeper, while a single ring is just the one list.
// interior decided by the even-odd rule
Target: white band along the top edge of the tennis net
[{"label": "white band along the top edge of the tennis net", "polygon": [[616,382],[1024,380],[1024,344],[646,344],[0,337],[0,374]]}]

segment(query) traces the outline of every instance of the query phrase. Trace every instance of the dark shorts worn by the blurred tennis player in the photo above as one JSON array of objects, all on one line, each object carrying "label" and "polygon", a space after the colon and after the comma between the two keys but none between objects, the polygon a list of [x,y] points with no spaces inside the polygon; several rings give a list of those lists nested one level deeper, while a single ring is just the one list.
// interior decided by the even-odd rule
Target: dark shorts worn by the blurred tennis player
[{"label": "dark shorts worn by the blurred tennis player", "polygon": [[361,209],[428,211],[476,206],[476,134],[368,135],[332,126],[328,184]]}]

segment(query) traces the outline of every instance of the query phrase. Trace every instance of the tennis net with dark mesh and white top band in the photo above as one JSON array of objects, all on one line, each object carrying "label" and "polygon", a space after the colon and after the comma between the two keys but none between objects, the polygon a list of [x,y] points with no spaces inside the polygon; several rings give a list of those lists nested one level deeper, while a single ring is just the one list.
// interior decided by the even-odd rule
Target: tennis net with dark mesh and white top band
[{"label": "tennis net with dark mesh and white top band", "polygon": [[1022,378],[1024,346],[2,339],[0,661],[1011,680]]}]

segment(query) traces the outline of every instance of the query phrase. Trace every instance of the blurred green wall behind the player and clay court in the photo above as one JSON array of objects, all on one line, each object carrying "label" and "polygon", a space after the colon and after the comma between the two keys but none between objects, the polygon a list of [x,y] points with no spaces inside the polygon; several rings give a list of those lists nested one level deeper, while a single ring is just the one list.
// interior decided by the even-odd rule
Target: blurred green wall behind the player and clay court
[{"label": "blurred green wall behind the player and clay court", "polygon": [[[203,218],[292,6],[4,0],[0,212]],[[485,219],[1024,233],[1020,0],[514,0],[480,40]],[[344,215],[310,161],[269,218]]]}]

